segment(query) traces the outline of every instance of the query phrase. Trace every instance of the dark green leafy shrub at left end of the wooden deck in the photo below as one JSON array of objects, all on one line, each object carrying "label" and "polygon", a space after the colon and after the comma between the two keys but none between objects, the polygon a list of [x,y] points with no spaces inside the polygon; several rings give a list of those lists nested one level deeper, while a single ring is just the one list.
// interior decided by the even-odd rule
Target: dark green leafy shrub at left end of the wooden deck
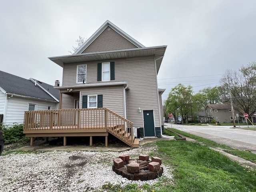
[{"label": "dark green leafy shrub at left end of the wooden deck", "polygon": [[0,125],[0,130],[3,132],[4,143],[26,143],[29,138],[25,137],[23,134],[23,124],[14,123],[12,126],[8,127],[7,125]]}]

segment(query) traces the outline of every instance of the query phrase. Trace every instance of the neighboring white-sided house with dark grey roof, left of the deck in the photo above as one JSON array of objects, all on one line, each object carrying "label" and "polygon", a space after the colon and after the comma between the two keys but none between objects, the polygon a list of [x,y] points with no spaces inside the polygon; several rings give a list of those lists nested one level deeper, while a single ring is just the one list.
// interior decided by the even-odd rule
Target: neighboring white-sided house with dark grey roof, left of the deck
[{"label": "neighboring white-sided house with dark grey roof, left of the deck", "polygon": [[52,85],[0,71],[0,123],[23,123],[28,110],[58,109],[59,97]]}]

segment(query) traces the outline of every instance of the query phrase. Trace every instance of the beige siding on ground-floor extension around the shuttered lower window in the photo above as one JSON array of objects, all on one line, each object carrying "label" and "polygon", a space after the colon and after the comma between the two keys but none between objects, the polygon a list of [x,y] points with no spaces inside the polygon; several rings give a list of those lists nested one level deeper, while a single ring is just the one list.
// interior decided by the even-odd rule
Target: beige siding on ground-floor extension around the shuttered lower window
[{"label": "beige siding on ground-floor extension around the shuttered lower window", "polygon": [[86,88],[85,90],[81,91],[81,98],[83,95],[103,95],[103,107],[112,110],[120,116],[124,116],[123,86]]}]

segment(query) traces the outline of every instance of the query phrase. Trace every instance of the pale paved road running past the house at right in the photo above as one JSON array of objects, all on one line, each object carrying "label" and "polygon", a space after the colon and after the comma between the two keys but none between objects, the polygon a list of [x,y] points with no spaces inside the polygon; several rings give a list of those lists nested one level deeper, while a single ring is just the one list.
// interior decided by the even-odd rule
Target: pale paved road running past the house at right
[{"label": "pale paved road running past the house at right", "polygon": [[232,126],[165,125],[236,149],[251,150],[256,154],[256,130],[234,129]]}]

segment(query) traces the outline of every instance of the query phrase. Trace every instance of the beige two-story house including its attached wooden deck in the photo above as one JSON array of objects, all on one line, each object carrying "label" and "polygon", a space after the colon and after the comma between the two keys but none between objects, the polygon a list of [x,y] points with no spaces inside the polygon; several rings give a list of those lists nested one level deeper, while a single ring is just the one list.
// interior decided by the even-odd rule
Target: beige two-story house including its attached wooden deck
[{"label": "beige two-story house including its attached wooden deck", "polygon": [[[73,55],[50,57],[63,68],[62,86],[55,87],[60,110],[48,120],[54,134],[39,132],[64,136],[64,145],[66,136],[90,136],[90,145],[92,136],[105,136],[107,146],[113,134],[138,147],[134,136],[161,136],[164,89],[157,74],[166,47],[145,47],[107,20]],[[34,136],[32,128],[24,133]]]}]

